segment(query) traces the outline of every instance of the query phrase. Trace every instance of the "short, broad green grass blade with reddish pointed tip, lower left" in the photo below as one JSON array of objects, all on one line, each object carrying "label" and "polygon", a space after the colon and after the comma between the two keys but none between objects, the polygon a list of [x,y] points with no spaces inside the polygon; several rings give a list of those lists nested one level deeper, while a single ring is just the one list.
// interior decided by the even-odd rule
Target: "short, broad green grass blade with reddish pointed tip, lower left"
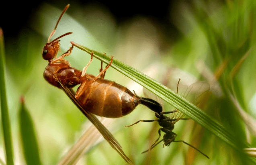
[{"label": "short, broad green grass blade with reddish pointed tip, lower left", "polygon": [[21,106],[19,111],[20,136],[23,144],[23,153],[27,165],[41,165],[39,157],[39,147],[34,129],[33,120],[29,111],[25,107],[24,100],[21,98]]}]

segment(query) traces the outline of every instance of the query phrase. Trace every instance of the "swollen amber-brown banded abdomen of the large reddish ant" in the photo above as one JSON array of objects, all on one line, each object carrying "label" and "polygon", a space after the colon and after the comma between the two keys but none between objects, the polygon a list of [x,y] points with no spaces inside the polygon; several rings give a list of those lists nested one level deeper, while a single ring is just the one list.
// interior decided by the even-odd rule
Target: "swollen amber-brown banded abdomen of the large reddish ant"
[{"label": "swollen amber-brown banded abdomen of the large reddish ant", "polygon": [[139,97],[124,86],[100,78],[90,84],[78,101],[85,110],[107,118],[125,116],[140,103]]}]

